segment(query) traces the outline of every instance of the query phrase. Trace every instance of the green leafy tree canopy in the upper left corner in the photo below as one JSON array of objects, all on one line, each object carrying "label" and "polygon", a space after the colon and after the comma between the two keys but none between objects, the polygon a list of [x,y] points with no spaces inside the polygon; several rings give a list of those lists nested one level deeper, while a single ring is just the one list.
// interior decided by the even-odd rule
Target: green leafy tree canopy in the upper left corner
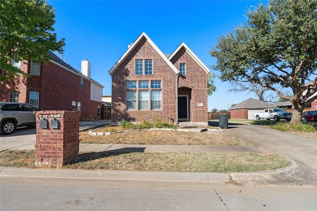
[{"label": "green leafy tree canopy in the upper left corner", "polygon": [[20,69],[8,64],[32,58],[40,63],[50,59],[48,51],[63,52],[64,39],[56,41],[54,8],[45,0],[1,0],[0,65],[1,81],[13,79]]}]

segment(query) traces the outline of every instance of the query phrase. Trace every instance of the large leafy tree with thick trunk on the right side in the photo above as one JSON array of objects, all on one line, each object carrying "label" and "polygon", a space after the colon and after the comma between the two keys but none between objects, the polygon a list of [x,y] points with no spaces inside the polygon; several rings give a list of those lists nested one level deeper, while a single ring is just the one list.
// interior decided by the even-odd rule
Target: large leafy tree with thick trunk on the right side
[{"label": "large leafy tree with thick trunk on the right side", "polygon": [[303,109],[317,99],[317,0],[270,0],[267,7],[248,9],[246,17],[247,23],[211,48],[217,58],[213,69],[222,81],[273,90],[293,103],[291,123],[300,121]]}]

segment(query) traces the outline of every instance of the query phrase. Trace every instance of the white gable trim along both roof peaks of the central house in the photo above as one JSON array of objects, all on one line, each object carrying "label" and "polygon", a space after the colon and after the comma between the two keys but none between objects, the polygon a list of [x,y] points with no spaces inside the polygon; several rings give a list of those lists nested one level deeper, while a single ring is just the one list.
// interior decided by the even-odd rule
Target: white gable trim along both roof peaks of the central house
[{"label": "white gable trim along both roof peaks of the central house", "polygon": [[122,64],[122,62],[129,56],[129,54],[133,51],[133,49],[141,42],[143,39],[146,39],[147,42],[150,43],[150,45],[159,53],[160,57],[168,64],[168,66],[175,72],[175,74],[178,74],[178,69],[170,62],[170,58],[173,58],[173,56],[181,49],[184,48],[191,57],[205,70],[207,73],[209,73],[209,68],[201,61],[199,58],[189,49],[189,47],[182,42],[177,49],[172,53],[172,55],[168,56],[168,54],[162,53],[162,51],[158,48],[158,46],[145,34],[145,32],[142,32],[142,34],[134,41],[130,47],[125,51],[125,53],[121,56],[121,58],[112,66],[112,68],[109,70],[109,74],[112,75],[117,67]]}]

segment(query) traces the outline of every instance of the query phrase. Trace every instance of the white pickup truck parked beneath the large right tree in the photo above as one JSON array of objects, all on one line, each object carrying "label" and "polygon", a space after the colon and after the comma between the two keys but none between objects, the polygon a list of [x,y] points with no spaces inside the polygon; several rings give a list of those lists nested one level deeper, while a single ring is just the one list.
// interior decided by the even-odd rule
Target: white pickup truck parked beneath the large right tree
[{"label": "white pickup truck parked beneath the large right tree", "polygon": [[266,120],[274,119],[275,121],[279,121],[279,120],[287,120],[287,121],[290,121],[291,118],[292,118],[292,113],[291,113],[291,112],[284,111],[283,109],[280,109],[280,108],[270,108],[270,109],[264,109],[264,111],[263,111],[262,113],[256,112],[256,113],[253,114],[253,116],[254,116],[257,120],[261,120],[261,119],[266,119]]}]

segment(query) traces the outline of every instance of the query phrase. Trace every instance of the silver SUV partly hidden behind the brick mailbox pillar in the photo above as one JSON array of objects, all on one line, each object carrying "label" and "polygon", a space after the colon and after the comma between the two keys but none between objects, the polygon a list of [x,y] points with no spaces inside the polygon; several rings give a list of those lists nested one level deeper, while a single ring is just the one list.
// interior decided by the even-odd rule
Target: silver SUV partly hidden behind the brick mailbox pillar
[{"label": "silver SUV partly hidden behind the brick mailbox pillar", "polygon": [[0,102],[0,132],[11,134],[16,127],[35,125],[34,111],[40,111],[28,103]]}]

